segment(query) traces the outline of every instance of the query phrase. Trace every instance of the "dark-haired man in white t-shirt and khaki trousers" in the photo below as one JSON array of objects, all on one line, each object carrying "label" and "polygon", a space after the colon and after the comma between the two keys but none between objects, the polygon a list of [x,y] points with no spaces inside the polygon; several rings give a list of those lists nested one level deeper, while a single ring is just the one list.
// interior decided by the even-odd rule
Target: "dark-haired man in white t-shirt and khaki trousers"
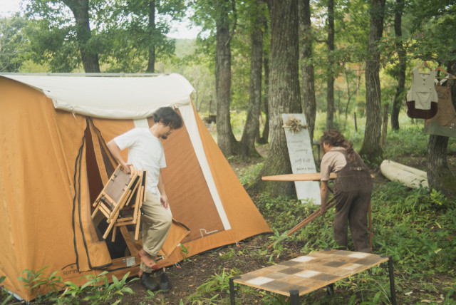
[{"label": "dark-haired man in white t-shirt and khaki trousers", "polygon": [[[158,269],[155,259],[170,231],[172,218],[160,169],[166,167],[165,153],[160,141],[166,139],[173,130],[182,127],[182,118],[171,107],[159,108],[152,115],[151,128],[134,128],[110,140],[108,148],[123,171],[147,170],[146,200],[142,204],[142,249],[138,253],[141,260],[140,279],[142,285],[151,291],[159,286],[150,278],[152,269]],[[128,162],[123,160],[121,150],[128,148]]]}]

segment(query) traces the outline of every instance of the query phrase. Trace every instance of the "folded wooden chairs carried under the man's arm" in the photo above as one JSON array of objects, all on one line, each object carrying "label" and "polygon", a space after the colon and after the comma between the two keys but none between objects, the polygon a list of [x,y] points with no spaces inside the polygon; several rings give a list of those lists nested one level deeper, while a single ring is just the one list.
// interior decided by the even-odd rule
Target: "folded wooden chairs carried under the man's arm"
[{"label": "folded wooden chairs carried under the man's arm", "polygon": [[108,229],[105,230],[103,238],[106,239],[113,229],[113,239],[117,227],[120,227],[122,234],[128,234],[126,226],[135,225],[135,240],[139,239],[141,206],[145,201],[145,188],[147,172],[145,170],[133,170],[131,174],[123,172],[120,165],[106,183],[98,198],[93,203],[95,210],[92,219],[98,212],[106,217]]}]

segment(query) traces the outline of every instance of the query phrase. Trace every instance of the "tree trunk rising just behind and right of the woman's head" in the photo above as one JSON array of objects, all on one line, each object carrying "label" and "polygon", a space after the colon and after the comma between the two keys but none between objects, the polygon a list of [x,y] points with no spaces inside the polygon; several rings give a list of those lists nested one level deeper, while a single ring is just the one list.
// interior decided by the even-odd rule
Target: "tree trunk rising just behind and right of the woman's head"
[{"label": "tree trunk rising just behind and right of the woman's head", "polygon": [[366,60],[366,132],[360,153],[375,163],[382,157],[380,136],[382,128],[380,96],[380,53],[378,42],[383,33],[385,0],[372,0],[369,28],[368,59]]}]

